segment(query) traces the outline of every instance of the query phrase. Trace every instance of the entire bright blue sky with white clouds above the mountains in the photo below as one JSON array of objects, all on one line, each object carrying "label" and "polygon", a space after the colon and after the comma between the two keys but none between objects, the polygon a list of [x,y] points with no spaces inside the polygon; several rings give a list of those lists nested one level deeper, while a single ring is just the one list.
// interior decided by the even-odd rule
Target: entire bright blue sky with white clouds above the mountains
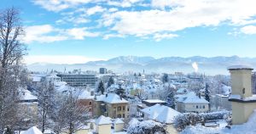
[{"label": "entire bright blue sky with white clouds above the mountains", "polygon": [[254,0],[1,0],[20,8],[26,63],[117,56],[256,57]]}]

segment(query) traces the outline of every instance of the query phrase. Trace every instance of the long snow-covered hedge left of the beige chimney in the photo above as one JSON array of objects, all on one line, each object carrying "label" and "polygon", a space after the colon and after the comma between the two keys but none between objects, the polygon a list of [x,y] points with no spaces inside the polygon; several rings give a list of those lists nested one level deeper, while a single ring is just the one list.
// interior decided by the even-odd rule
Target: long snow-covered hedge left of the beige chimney
[{"label": "long snow-covered hedge left of the beige chimney", "polygon": [[230,114],[228,111],[218,111],[212,113],[184,113],[179,114],[175,117],[174,126],[176,127],[177,131],[182,131],[186,126],[195,126],[196,123],[200,123],[202,121],[207,120],[223,120],[224,116]]}]

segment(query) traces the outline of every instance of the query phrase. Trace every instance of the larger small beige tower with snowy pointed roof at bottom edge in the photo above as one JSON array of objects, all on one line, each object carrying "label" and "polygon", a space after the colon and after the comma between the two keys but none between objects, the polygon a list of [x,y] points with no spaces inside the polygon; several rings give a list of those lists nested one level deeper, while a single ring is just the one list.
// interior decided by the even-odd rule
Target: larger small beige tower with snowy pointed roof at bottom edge
[{"label": "larger small beige tower with snowy pointed roof at bottom edge", "polygon": [[95,122],[97,134],[111,134],[112,121],[101,115]]}]

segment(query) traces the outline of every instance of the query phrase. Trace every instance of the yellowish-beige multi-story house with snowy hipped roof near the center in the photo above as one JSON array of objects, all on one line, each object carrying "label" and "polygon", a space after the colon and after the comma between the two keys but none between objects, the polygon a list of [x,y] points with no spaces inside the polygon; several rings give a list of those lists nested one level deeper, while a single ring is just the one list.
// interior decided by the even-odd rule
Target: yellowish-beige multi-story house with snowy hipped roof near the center
[{"label": "yellowish-beige multi-story house with snowy hipped roof near the center", "polygon": [[128,101],[114,93],[96,96],[94,98],[93,110],[95,116],[105,115],[110,118],[129,117]]}]

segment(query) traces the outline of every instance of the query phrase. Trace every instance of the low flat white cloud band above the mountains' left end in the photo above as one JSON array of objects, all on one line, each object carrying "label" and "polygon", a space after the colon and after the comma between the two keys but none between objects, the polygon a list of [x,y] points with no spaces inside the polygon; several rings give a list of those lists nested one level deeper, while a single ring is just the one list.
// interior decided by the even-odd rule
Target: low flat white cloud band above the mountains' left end
[{"label": "low flat white cloud band above the mountains' left end", "polygon": [[29,55],[25,58],[26,64],[49,63],[49,64],[84,64],[88,61],[104,60],[88,58],[79,55]]}]

